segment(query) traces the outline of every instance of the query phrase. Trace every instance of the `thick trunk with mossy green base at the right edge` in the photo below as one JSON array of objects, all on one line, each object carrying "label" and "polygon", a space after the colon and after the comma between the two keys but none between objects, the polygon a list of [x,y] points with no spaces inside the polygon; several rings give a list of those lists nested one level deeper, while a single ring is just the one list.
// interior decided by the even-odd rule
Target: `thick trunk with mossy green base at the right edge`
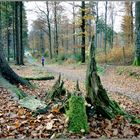
[{"label": "thick trunk with mossy green base at the right edge", "polygon": [[140,2],[135,4],[135,27],[136,27],[136,41],[135,41],[135,59],[134,65],[140,66]]}]

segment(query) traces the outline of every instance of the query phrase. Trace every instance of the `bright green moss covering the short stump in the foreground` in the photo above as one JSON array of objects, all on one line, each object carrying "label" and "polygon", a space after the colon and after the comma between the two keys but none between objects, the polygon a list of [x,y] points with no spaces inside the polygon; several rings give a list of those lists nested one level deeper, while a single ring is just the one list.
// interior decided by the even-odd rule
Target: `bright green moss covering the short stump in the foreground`
[{"label": "bright green moss covering the short stump in the foreground", "polygon": [[88,132],[88,122],[84,99],[81,96],[71,96],[69,99],[69,110],[67,111],[69,117],[69,131],[80,133],[84,130]]}]

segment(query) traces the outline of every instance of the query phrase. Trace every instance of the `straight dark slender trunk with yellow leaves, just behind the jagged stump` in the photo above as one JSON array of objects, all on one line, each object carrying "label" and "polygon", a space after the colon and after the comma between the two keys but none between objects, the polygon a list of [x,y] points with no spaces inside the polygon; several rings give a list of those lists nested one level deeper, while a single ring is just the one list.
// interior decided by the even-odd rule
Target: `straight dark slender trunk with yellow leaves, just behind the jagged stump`
[{"label": "straight dark slender trunk with yellow leaves, just behind the jagged stump", "polygon": [[82,63],[85,63],[85,41],[86,41],[86,38],[85,38],[85,1],[82,1],[82,6],[81,6],[81,9],[82,9],[82,25],[81,25],[81,29],[82,29],[82,47],[81,47],[81,62]]}]

